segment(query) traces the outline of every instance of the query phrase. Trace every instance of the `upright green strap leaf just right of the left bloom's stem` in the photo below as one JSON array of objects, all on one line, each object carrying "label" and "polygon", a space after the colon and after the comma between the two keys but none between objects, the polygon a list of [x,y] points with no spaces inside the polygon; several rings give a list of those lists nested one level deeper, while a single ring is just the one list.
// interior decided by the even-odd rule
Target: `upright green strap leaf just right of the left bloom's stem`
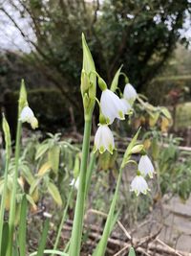
[{"label": "upright green strap leaf just right of the left bloom's stem", "polygon": [[26,232],[27,232],[27,198],[24,195],[21,203],[21,215],[18,230],[18,244],[20,256],[26,256]]}]

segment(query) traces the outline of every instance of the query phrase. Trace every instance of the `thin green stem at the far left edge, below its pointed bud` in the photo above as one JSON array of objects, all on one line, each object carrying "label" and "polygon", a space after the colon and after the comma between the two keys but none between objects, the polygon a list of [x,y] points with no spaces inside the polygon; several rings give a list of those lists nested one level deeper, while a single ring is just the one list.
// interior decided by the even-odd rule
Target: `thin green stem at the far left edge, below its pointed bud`
[{"label": "thin green stem at the far left edge, below its pointed bud", "polygon": [[3,243],[2,234],[3,234],[6,194],[7,194],[7,187],[8,187],[9,163],[10,163],[10,153],[6,152],[5,180],[4,180],[3,196],[1,198],[1,210],[0,210],[0,253],[1,253],[1,245]]}]

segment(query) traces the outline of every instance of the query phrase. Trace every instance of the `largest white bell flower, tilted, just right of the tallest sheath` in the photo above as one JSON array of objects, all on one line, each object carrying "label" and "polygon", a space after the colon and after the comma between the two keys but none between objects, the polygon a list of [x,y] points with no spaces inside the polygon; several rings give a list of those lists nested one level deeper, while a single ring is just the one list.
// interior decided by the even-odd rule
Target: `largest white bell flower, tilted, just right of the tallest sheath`
[{"label": "largest white bell flower, tilted, just right of the tallest sheath", "polygon": [[102,91],[100,105],[101,112],[108,124],[112,124],[115,118],[125,119],[126,107],[113,91],[109,89]]}]

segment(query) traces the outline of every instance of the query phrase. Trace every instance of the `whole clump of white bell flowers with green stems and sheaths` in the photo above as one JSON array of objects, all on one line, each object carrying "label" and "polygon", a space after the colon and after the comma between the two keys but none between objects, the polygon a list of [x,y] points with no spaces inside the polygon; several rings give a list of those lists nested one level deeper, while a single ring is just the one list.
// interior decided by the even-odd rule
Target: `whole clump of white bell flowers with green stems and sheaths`
[{"label": "whole clump of white bell flowers with green stems and sheaths", "polygon": [[[106,82],[97,74],[96,66],[88,45],[86,43],[84,35],[82,35],[82,46],[83,46],[83,66],[81,72],[81,95],[83,101],[84,108],[84,136],[83,136],[83,145],[82,145],[82,156],[80,161],[80,170],[79,173],[74,175],[74,180],[71,182],[71,193],[69,195],[69,199],[65,206],[63,217],[60,222],[57,236],[55,242],[53,244],[52,250],[45,250],[46,245],[46,237],[49,230],[49,220],[51,216],[49,214],[45,214],[45,223],[44,229],[42,232],[41,241],[39,243],[38,250],[30,254],[42,256],[44,253],[52,254],[52,255],[69,255],[69,256],[79,256],[80,248],[81,248],[81,238],[82,238],[82,230],[83,230],[83,218],[85,212],[86,198],[89,192],[89,187],[91,183],[91,178],[93,174],[93,168],[96,161],[96,152],[103,153],[104,151],[108,151],[111,154],[115,150],[115,138],[110,126],[118,120],[125,120],[126,116],[132,114],[134,111],[134,103],[138,99],[138,93],[136,89],[130,84],[126,75],[120,72],[121,67],[117,70],[117,74],[112,81],[111,87],[109,88]],[[123,94],[117,95],[117,83],[120,75],[125,77],[125,86]],[[96,98],[96,86],[99,86],[101,89],[101,97],[100,100]],[[93,112],[95,109],[96,103],[99,106],[99,124],[96,130],[95,135],[95,145],[94,151],[90,153],[90,137],[92,133],[92,119]],[[20,141],[21,141],[21,128],[23,123],[29,123],[32,128],[38,127],[38,121],[34,116],[32,109],[30,108],[27,101],[27,91],[25,88],[24,81],[21,84],[20,97],[19,97],[19,105],[18,105],[18,119],[17,119],[17,134],[16,134],[16,145],[15,145],[15,157],[14,157],[14,173],[13,173],[13,183],[11,189],[11,205],[10,205],[10,216],[9,222],[6,222],[6,226],[4,227],[4,215],[5,215],[5,200],[8,192],[8,171],[9,165],[11,162],[11,135],[10,128],[7,123],[5,117],[3,117],[3,129],[6,140],[6,168],[5,168],[5,177],[4,177],[4,186],[1,200],[1,210],[0,210],[0,252],[4,252],[2,255],[11,256],[12,250],[14,248],[14,244],[17,243],[15,240],[15,211],[16,211],[16,190],[18,186],[18,176],[19,176],[19,156],[20,156]],[[117,204],[117,197],[119,194],[119,186],[122,177],[122,172],[125,169],[126,165],[130,162],[134,163],[137,168],[137,174],[132,179],[130,190],[135,192],[138,196],[139,194],[146,194],[150,189],[148,187],[146,178],[147,176],[153,177],[155,171],[154,166],[150,160],[150,158],[146,155],[146,151],[144,146],[138,144],[138,134],[140,128],[138,128],[137,133],[129,143],[118,171],[117,175],[117,186],[115,189],[114,197],[112,203],[110,205],[110,210],[107,215],[107,220],[103,229],[102,236],[96,245],[96,248],[93,252],[93,256],[104,256],[106,251],[107,242],[109,236],[112,232],[113,226],[115,224],[116,215],[115,209]],[[57,138],[52,138],[51,140],[52,147],[49,149],[49,162],[45,163],[45,166],[40,169],[38,175],[43,176],[45,173],[49,172],[50,169],[53,170],[53,174],[56,175],[58,169],[58,157],[59,155],[59,144],[57,143]],[[43,150],[41,148],[41,152],[47,151],[48,148],[43,145]],[[132,154],[139,153],[140,159],[139,162],[135,162],[131,159]],[[37,155],[42,156],[43,153],[37,153]],[[37,157],[38,158],[38,157]],[[36,158],[36,159],[37,159]],[[77,158],[76,158],[77,159]],[[78,165],[78,160],[76,161]],[[36,181],[37,180],[37,181]],[[32,189],[35,189],[36,183],[38,179],[36,179]],[[47,179],[45,180],[47,182]],[[56,190],[53,183],[49,182],[49,187],[51,186],[52,196],[57,195],[59,200],[57,201],[59,205],[62,204],[61,198],[58,195],[58,191]],[[66,220],[66,214],[70,203],[70,198],[73,195],[74,189],[77,191],[77,197],[75,202],[75,210],[74,210],[74,222],[73,229],[70,242],[68,246],[65,248],[64,252],[57,250],[57,245],[60,238],[61,229],[64,221]],[[50,190],[50,189],[49,189]],[[29,198],[28,198],[29,199]],[[54,197],[55,199],[55,197]],[[18,247],[20,256],[26,255],[26,230],[27,230],[27,195],[25,193],[22,195],[22,205],[21,205],[21,218],[19,222],[19,236],[18,236]],[[3,236],[5,237],[5,230],[8,231],[8,244],[3,244]],[[135,251],[133,248],[130,249],[130,256],[135,255]]]}]

